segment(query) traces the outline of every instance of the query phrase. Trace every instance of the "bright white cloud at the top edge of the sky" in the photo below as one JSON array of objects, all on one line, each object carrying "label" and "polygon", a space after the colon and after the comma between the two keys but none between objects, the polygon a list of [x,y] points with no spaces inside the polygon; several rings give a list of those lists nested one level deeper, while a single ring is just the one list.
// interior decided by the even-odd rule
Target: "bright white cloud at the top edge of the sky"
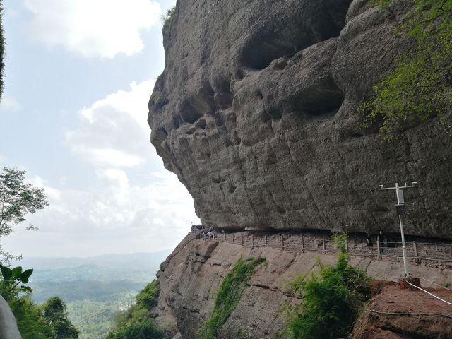
[{"label": "bright white cloud at the top edge of the sky", "polygon": [[160,4],[151,0],[24,0],[30,31],[40,42],[84,57],[136,54],[141,32],[157,25]]}]

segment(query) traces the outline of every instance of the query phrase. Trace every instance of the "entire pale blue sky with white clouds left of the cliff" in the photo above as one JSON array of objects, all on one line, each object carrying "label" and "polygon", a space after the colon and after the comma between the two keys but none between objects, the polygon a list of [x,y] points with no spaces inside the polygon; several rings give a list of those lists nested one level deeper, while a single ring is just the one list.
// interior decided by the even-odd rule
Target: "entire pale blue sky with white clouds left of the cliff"
[{"label": "entire pale blue sky with white clouds left of the cliff", "polygon": [[[172,248],[198,222],[149,142],[174,0],[6,0],[0,165],[28,171],[49,206],[0,241],[24,256]],[[29,222],[39,231],[24,230]]]}]

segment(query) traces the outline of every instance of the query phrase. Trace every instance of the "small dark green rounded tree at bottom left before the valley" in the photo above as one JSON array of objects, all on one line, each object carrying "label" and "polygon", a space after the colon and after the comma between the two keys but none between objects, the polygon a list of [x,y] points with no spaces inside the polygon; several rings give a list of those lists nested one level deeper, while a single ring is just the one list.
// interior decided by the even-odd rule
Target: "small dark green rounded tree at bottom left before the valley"
[{"label": "small dark green rounded tree at bottom left before the valley", "polygon": [[60,297],[51,297],[42,306],[42,316],[52,328],[52,339],[77,339],[78,330],[68,319],[66,304]]}]

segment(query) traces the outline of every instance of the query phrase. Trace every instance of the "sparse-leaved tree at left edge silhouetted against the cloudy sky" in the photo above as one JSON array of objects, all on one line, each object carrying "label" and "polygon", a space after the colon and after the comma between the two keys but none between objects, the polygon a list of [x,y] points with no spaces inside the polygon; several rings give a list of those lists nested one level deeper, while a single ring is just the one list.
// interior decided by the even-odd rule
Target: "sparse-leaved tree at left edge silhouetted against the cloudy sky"
[{"label": "sparse-leaved tree at left edge silhouetted against the cloudy sky", "polygon": [[[25,221],[25,215],[35,213],[48,205],[44,189],[25,183],[26,171],[4,167],[0,172],[0,238],[13,232],[13,225]],[[29,225],[28,230],[36,230]],[[13,256],[1,249],[0,261],[11,261]]]}]

